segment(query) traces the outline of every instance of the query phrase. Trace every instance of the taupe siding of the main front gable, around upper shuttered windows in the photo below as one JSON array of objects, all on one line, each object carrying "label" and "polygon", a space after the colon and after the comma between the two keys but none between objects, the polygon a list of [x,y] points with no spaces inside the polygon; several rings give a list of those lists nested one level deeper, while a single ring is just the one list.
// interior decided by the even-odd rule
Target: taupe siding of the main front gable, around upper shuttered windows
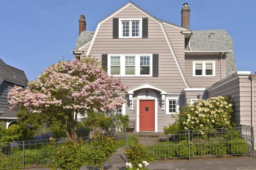
[{"label": "taupe siding of the main front gable, around upper shuttered windows", "polygon": [[[128,6],[113,18],[134,18],[147,17],[132,6]],[[168,91],[181,91],[186,88],[180,72],[178,71],[175,60],[167,44],[160,24],[148,18],[148,38],[119,38],[113,39],[112,36],[112,18],[102,23],[93,42],[90,54],[101,59],[102,54],[159,54],[159,77],[121,77],[122,82],[134,88],[145,82],[152,83]],[[174,32],[175,34],[177,31]],[[177,33],[180,37],[180,33]],[[173,38],[176,38],[173,35]],[[174,41],[173,46],[177,55],[184,54],[184,49],[179,49],[182,40]],[[178,47],[177,47],[178,46]]]}]

